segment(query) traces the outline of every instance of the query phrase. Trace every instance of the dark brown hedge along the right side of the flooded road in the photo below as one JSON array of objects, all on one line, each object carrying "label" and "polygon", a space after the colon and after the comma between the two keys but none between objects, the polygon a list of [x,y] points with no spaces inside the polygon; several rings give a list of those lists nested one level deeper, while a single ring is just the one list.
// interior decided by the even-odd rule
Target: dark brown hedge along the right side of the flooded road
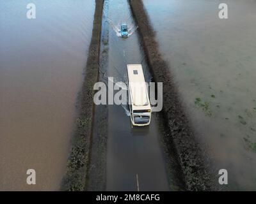
[{"label": "dark brown hedge along the right side of the flooded road", "polygon": [[148,65],[155,82],[163,82],[163,112],[168,124],[168,136],[172,137],[186,189],[189,191],[214,190],[212,174],[209,171],[207,157],[196,142],[195,133],[173,83],[172,74],[166,61],[159,52],[155,33],[141,0],[129,0],[132,15],[136,20]]}]

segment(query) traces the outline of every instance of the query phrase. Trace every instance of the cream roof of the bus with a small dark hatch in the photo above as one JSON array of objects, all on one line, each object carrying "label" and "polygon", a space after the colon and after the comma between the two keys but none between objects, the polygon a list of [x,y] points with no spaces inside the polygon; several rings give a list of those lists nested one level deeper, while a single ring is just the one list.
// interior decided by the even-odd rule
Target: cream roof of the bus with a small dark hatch
[{"label": "cream roof of the bus with a small dark hatch", "polygon": [[139,106],[149,106],[150,108],[147,86],[141,64],[127,64],[127,72],[132,105],[138,106],[138,109],[140,109]]}]

